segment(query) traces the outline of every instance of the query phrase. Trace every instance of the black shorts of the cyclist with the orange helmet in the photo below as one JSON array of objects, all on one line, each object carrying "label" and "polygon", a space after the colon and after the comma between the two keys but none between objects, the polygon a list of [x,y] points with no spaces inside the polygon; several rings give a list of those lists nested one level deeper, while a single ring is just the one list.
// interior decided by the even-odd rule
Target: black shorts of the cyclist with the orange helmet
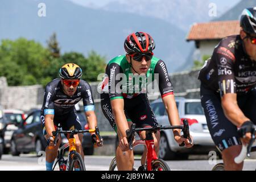
[{"label": "black shorts of the cyclist with the orange helmet", "polygon": [[[41,115],[40,119],[43,125],[43,135],[45,136],[47,135],[47,133],[46,133],[46,127],[44,125],[44,115]],[[81,123],[79,121],[79,117],[75,110],[72,110],[71,112],[64,115],[54,115],[53,123],[54,123],[55,129],[57,128],[59,123],[62,127],[62,130],[72,130],[72,129],[81,130],[82,129]],[[67,135],[65,136],[67,137]]]}]

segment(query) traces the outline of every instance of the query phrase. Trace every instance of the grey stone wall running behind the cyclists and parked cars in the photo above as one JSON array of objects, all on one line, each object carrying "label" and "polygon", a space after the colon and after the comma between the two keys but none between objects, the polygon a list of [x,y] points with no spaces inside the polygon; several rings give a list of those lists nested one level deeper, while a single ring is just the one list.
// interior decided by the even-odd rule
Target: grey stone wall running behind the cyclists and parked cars
[{"label": "grey stone wall running behind the cyclists and parked cars", "polygon": [[[175,96],[186,98],[200,98],[200,82],[197,80],[198,71],[171,74]],[[98,82],[90,82],[95,102],[98,125],[101,131],[113,131],[101,111],[100,93],[97,92]],[[4,109],[20,109],[28,111],[40,108],[43,103],[44,88],[42,85],[8,86],[5,77],[0,77],[0,105]],[[159,98],[160,95],[154,97]],[[151,98],[151,97],[150,97]],[[152,100],[150,100],[152,101]],[[82,102],[80,102],[82,106]]]}]

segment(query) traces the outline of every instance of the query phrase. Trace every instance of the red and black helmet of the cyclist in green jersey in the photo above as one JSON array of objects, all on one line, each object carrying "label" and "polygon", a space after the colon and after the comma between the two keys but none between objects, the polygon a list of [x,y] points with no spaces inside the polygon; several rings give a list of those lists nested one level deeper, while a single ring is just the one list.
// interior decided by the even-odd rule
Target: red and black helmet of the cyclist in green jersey
[{"label": "red and black helmet of the cyclist in green jersey", "polygon": [[129,54],[137,52],[152,52],[155,48],[155,41],[145,32],[136,32],[127,36],[124,47],[125,51]]}]

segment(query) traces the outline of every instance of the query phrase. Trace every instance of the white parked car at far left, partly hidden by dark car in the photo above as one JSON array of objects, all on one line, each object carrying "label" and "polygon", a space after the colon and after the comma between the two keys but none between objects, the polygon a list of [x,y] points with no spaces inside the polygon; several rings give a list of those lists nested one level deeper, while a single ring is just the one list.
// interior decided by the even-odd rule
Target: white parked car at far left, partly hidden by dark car
[{"label": "white parked car at far left, partly hidden by dark car", "polygon": [[4,153],[7,154],[11,147],[13,132],[18,130],[18,125],[25,119],[24,111],[17,109],[4,109],[7,126],[4,134]]}]

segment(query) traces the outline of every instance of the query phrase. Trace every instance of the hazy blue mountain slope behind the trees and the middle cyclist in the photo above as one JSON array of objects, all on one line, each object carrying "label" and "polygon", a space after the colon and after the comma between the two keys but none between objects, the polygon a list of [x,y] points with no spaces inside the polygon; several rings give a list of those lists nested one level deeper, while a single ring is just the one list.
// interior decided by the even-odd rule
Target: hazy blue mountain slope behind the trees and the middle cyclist
[{"label": "hazy blue mountain slope behind the trees and the middle cyclist", "polygon": [[[38,16],[39,3],[46,5],[46,16]],[[63,0],[1,1],[0,40],[22,36],[46,46],[56,32],[61,52],[86,55],[94,50],[110,60],[125,53],[123,41],[135,31],[146,31],[154,38],[155,56],[166,62],[170,72],[185,62],[184,54],[191,48],[184,41],[187,32],[159,18],[90,9]]]}]

